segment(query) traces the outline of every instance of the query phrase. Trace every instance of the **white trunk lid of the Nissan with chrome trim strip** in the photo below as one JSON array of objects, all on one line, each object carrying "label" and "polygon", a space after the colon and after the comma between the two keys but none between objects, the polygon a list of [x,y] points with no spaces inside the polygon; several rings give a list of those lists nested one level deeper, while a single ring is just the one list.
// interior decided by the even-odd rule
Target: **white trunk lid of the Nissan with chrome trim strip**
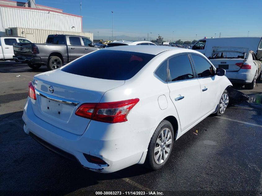
[{"label": "white trunk lid of the Nissan with chrome trim strip", "polygon": [[98,103],[103,94],[124,81],[79,76],[60,69],[38,74],[32,84],[36,101],[33,111],[38,118],[70,133],[82,135],[90,119],[75,115],[82,103]]}]

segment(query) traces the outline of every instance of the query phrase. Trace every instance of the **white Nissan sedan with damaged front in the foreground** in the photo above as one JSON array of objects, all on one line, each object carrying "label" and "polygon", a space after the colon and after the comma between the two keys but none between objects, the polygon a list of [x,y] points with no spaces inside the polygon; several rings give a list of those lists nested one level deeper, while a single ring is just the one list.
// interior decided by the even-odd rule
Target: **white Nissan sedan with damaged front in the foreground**
[{"label": "white Nissan sedan with damaged front in the foreground", "polygon": [[34,76],[24,131],[97,172],[133,164],[155,170],[174,141],[229,103],[232,84],[200,52],[118,46]]}]

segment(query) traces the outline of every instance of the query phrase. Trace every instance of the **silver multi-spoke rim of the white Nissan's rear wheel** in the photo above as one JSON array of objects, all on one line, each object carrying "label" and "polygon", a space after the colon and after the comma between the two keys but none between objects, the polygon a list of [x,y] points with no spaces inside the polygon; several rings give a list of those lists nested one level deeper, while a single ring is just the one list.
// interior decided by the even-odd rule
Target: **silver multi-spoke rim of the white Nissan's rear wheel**
[{"label": "silver multi-spoke rim of the white Nissan's rear wheel", "polygon": [[169,128],[164,128],[158,135],[154,147],[154,159],[157,164],[163,163],[169,156],[172,147],[172,134]]}]

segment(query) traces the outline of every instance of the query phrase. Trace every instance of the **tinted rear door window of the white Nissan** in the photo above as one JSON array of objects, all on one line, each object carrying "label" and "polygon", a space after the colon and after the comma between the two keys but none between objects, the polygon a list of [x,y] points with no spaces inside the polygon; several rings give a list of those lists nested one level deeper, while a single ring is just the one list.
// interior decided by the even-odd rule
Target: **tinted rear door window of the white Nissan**
[{"label": "tinted rear door window of the white Nissan", "polygon": [[191,63],[187,54],[168,60],[168,81],[188,80],[194,78]]}]

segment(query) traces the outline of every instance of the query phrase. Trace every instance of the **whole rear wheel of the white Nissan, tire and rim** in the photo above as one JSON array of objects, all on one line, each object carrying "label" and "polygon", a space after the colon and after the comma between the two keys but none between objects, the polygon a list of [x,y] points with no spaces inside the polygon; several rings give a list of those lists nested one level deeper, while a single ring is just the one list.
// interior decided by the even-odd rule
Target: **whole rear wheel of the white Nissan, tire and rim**
[{"label": "whole rear wheel of the white Nissan, tire and rim", "polygon": [[170,157],[173,143],[173,127],[169,121],[162,120],[150,140],[145,166],[152,170],[162,168]]}]

